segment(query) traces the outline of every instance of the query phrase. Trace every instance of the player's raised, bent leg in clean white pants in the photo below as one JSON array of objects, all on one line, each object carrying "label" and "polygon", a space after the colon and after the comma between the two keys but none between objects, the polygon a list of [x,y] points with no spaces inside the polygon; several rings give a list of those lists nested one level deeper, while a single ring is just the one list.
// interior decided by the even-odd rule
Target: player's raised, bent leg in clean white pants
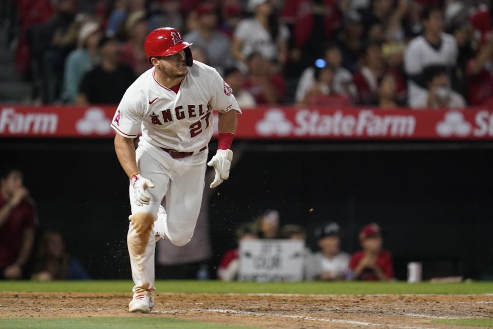
[{"label": "player's raised, bent leg in clean white pants", "polygon": [[177,161],[177,171],[166,193],[166,221],[162,231],[176,246],[184,246],[191,239],[197,224],[204,190],[207,152]]}]

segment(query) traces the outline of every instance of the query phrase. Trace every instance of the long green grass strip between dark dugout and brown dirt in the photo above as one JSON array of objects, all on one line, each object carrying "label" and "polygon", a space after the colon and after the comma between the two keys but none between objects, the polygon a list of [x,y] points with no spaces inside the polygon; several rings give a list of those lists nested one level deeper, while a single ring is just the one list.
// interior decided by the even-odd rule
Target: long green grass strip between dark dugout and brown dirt
[{"label": "long green grass strip between dark dugout and brown dirt", "polygon": [[[0,291],[53,291],[60,293],[130,293],[131,281],[0,281]],[[492,294],[493,282],[221,282],[157,281],[157,293],[206,294]]]}]

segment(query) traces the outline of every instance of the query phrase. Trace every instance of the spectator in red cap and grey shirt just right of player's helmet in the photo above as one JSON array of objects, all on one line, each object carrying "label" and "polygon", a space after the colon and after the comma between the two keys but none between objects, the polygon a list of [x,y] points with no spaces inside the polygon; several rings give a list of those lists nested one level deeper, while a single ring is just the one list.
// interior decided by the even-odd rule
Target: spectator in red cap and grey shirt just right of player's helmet
[{"label": "spectator in red cap and grey shirt just right of player's helmet", "polygon": [[197,10],[198,28],[183,38],[195,46],[201,47],[209,61],[208,65],[223,74],[224,68],[234,64],[230,39],[217,29],[218,16],[214,7],[202,4]]}]

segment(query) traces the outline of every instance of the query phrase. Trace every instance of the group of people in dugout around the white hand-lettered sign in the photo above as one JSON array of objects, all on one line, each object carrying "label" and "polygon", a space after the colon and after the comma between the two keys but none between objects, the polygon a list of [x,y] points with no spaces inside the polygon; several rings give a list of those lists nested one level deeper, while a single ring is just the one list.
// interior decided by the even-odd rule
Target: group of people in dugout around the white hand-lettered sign
[{"label": "group of people in dugout around the white hand-lettered sign", "polygon": [[[382,248],[380,227],[371,223],[359,231],[361,250],[353,255],[341,250],[342,231],[335,222],[315,229],[315,252],[305,245],[303,252],[304,280],[364,280],[388,281],[394,279],[392,255]],[[252,223],[241,224],[236,231],[237,247],[224,253],[217,270],[223,281],[238,279],[240,270],[239,245],[244,240],[286,239],[306,243],[307,232],[299,225],[279,226],[279,213],[268,211]]]}]

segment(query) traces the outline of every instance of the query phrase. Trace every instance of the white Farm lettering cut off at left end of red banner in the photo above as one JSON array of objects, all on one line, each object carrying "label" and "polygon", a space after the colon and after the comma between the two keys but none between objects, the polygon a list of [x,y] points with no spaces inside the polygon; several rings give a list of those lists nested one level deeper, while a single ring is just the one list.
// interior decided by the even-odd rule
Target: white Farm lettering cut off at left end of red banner
[{"label": "white Farm lettering cut off at left end of red banner", "polygon": [[58,115],[54,113],[21,113],[4,107],[0,113],[0,133],[55,134]]}]

